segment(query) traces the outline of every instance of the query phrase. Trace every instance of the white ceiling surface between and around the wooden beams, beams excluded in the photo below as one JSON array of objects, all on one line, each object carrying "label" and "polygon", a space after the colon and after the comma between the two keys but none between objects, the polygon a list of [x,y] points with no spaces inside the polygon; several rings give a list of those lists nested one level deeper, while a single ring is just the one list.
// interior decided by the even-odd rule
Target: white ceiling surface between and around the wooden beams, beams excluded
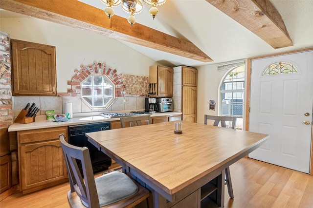
[{"label": "white ceiling surface between and around the wooden beams, beams excluded", "polygon": [[[101,9],[106,7],[100,0],[80,1]],[[149,15],[150,6],[144,3],[143,11],[135,17],[137,23],[191,41],[211,57],[213,62],[203,63],[132,43],[123,43],[161,64],[195,67],[313,47],[313,0],[270,1],[281,14],[293,46],[273,49],[205,0],[167,0],[158,7],[159,13],[154,20]],[[129,16],[121,7],[115,7],[114,11],[118,16]]]}]

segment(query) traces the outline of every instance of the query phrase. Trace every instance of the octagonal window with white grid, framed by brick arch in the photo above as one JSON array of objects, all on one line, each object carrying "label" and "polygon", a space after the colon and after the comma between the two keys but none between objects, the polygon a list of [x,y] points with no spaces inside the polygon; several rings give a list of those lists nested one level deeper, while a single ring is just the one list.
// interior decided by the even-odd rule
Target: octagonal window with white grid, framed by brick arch
[{"label": "octagonal window with white grid, framed by brick arch", "polygon": [[115,86],[106,75],[90,75],[81,83],[81,98],[90,109],[108,109],[115,99]]}]

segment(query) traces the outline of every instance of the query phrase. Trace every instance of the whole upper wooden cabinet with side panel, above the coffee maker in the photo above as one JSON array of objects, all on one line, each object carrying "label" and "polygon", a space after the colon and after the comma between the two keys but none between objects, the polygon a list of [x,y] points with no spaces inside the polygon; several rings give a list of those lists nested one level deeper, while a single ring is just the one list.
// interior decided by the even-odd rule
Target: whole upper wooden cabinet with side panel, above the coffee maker
[{"label": "whole upper wooden cabinet with side panel, above the coffee maker", "polygon": [[173,96],[173,68],[166,66],[150,66],[150,83],[156,97]]}]

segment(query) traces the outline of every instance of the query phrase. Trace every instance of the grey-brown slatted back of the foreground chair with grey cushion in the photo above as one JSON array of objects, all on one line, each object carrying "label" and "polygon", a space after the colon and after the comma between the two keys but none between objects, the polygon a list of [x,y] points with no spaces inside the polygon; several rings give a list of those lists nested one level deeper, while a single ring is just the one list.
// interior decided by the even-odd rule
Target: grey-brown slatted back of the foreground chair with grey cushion
[{"label": "grey-brown slatted back of the foreground chair with grey cushion", "polygon": [[[99,207],[98,193],[88,148],[68,144],[65,141],[64,134],[60,134],[59,139],[67,165],[71,192],[75,191],[79,198],[88,204],[89,207]],[[82,172],[78,168],[77,160],[80,160],[82,163]]]}]

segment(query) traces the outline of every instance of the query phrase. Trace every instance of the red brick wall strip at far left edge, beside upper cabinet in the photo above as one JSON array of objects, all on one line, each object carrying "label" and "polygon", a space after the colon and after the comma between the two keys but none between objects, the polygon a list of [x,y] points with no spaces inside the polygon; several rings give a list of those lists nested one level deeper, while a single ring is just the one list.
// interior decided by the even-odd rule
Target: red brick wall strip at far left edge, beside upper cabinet
[{"label": "red brick wall strip at far left edge, beside upper cabinet", "polygon": [[10,36],[0,31],[0,127],[12,122]]}]

